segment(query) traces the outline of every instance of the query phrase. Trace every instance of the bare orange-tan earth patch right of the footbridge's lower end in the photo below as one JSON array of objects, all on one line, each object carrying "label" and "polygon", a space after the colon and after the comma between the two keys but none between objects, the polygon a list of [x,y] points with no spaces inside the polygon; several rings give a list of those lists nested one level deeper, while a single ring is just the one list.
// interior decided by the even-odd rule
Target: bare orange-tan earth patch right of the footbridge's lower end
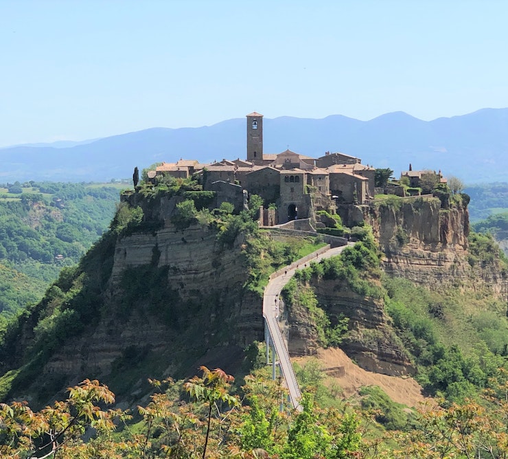
[{"label": "bare orange-tan earth patch right of the footbridge's lower end", "polygon": [[[422,395],[422,388],[413,378],[402,378],[387,376],[386,374],[362,370],[356,363],[353,363],[345,352],[340,349],[321,349],[316,356],[321,362],[323,370],[336,367],[344,367],[345,374],[341,377],[328,376],[325,384],[336,382],[344,390],[344,397],[349,397],[363,385],[378,385],[386,394],[397,403],[404,403],[409,407],[417,406],[419,403],[428,401]],[[299,365],[316,357],[298,357],[292,359]]]}]

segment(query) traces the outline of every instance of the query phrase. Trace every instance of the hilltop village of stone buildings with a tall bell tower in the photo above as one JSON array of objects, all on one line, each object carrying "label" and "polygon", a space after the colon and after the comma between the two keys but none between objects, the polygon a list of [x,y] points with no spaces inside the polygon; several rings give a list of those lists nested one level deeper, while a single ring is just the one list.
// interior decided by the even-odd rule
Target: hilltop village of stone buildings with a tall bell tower
[{"label": "hilltop village of stone buildings with a tall bell tower", "polygon": [[[263,151],[263,115],[246,115],[246,159],[222,159],[200,164],[192,159],[163,163],[148,172],[155,183],[158,176],[186,179],[199,175],[203,190],[216,192],[220,201],[229,201],[241,209],[251,194],[257,194],[272,209],[260,216],[262,225],[276,225],[296,219],[314,218],[314,212],[332,214],[338,208],[367,205],[375,196],[376,169],[362,164],[361,159],[343,153],[326,152],[318,158],[300,155],[291,150],[272,154]],[[403,172],[417,186],[428,171]],[[435,173],[435,172],[434,172]],[[446,181],[435,174],[437,181]],[[397,189],[389,191],[397,194]],[[275,210],[275,207],[277,210]]]}]

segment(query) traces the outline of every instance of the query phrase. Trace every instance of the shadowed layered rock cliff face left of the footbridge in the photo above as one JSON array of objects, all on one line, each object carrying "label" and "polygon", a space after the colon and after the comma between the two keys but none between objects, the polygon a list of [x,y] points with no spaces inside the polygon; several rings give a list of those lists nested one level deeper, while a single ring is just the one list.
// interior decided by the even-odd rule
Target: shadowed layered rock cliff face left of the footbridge
[{"label": "shadowed layered rock cliff face left of the footbridge", "polygon": [[153,359],[158,369],[163,361],[165,374],[181,375],[219,347],[229,349],[227,366],[228,352],[264,337],[262,300],[242,289],[241,245],[220,247],[216,233],[197,225],[120,238],[98,324],[58,350],[45,374],[71,381],[94,374],[108,383],[104,375],[132,357]]}]

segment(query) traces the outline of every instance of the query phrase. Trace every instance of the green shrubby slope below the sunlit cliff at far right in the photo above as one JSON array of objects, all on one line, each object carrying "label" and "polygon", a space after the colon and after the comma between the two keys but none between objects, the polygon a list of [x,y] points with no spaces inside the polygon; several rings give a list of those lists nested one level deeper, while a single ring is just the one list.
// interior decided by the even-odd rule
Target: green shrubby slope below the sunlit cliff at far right
[{"label": "green shrubby slope below the sunlit cliff at far right", "polygon": [[498,377],[508,355],[503,302],[485,304],[483,294],[438,294],[403,279],[385,279],[384,287],[386,311],[430,394],[459,401],[478,396]]}]

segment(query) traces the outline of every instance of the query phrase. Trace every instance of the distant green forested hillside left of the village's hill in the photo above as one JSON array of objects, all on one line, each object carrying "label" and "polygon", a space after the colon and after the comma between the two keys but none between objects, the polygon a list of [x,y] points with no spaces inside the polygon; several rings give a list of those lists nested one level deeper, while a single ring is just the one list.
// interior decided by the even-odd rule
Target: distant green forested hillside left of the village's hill
[{"label": "distant green forested hillside left of the village's hill", "polygon": [[41,299],[107,229],[121,184],[0,185],[0,313]]}]

